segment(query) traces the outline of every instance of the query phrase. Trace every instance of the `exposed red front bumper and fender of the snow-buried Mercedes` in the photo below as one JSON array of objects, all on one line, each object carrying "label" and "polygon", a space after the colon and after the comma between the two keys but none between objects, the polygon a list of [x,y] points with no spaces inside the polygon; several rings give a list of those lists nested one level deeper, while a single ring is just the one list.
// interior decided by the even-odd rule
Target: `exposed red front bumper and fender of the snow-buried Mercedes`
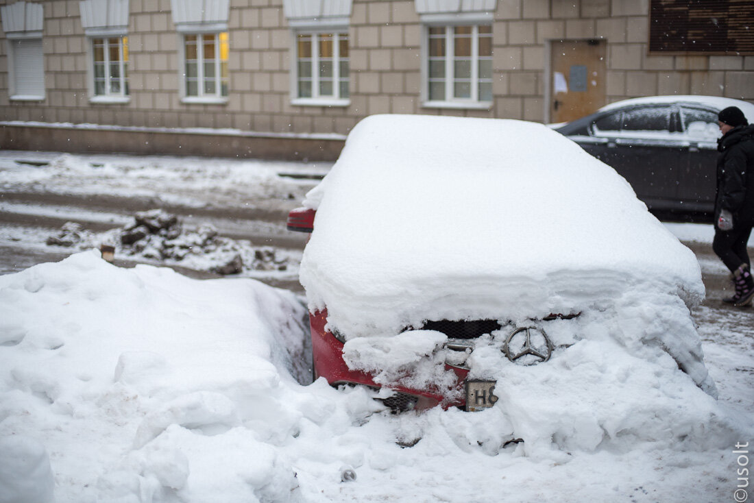
[{"label": "exposed red front bumper and fender of the snow-buried Mercedes", "polygon": [[[332,333],[325,330],[327,323],[327,311],[317,311],[309,313],[309,324],[311,326],[311,351],[313,354],[312,364],[317,376],[327,379],[331,385],[339,384],[359,384],[372,388],[381,388],[372,379],[368,373],[358,370],[351,370],[343,361],[343,343],[333,336]],[[446,365],[446,371],[455,373],[456,392],[452,393],[455,397],[465,397],[465,394],[458,393],[458,390],[464,389],[468,370]],[[433,389],[411,389],[401,385],[391,385],[394,391],[410,394],[418,398],[415,409],[429,409],[438,404],[443,408],[452,406],[465,406],[465,398],[450,399],[440,390]]]}]

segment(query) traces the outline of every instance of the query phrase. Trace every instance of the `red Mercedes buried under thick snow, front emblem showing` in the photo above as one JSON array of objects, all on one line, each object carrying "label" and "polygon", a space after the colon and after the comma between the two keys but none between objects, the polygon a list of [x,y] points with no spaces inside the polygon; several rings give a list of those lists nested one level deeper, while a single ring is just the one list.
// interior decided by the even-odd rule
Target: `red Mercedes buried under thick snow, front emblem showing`
[{"label": "red Mercedes buried under thick snow, front emblem showing", "polygon": [[387,388],[394,409],[487,409],[510,396],[506,373],[567,366],[599,340],[670,354],[714,393],[694,254],[544,125],[371,116],[288,226],[311,232],[300,280],[331,385]]}]

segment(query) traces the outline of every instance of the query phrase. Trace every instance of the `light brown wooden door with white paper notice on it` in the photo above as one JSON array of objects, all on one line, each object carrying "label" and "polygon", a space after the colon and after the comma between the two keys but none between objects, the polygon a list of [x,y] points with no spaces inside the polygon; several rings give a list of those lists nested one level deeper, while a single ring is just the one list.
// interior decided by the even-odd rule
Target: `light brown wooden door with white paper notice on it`
[{"label": "light brown wooden door with white paper notice on it", "polygon": [[553,41],[550,122],[584,117],[605,105],[605,41]]}]

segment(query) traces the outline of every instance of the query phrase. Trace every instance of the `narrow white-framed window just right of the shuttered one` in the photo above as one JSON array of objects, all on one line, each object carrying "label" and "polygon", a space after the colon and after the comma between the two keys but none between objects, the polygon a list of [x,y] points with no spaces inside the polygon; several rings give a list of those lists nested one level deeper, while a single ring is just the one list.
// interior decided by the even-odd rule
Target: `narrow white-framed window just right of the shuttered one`
[{"label": "narrow white-framed window just right of the shuttered one", "polygon": [[125,98],[128,90],[128,37],[90,38],[93,95]]}]

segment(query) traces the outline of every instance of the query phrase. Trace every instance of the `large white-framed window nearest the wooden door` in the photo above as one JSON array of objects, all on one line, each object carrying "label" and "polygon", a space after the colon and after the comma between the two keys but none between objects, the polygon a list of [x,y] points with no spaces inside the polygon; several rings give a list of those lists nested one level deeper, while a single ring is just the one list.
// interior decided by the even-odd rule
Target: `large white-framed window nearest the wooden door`
[{"label": "large white-framed window nearest the wooden door", "polygon": [[492,26],[428,26],[425,106],[492,102]]}]

